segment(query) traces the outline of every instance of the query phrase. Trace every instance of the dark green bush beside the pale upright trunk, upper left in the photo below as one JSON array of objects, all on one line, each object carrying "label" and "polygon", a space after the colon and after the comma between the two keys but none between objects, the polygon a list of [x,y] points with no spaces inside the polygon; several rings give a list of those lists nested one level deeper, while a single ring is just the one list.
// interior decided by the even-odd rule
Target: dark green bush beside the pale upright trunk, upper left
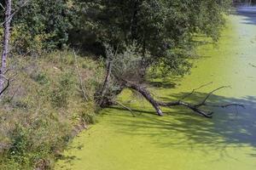
[{"label": "dark green bush beside the pale upright trunk, upper left", "polygon": [[[14,8],[18,9],[23,2],[14,3]],[[13,20],[15,50],[38,53],[67,46],[72,10],[67,0],[30,0]]]}]

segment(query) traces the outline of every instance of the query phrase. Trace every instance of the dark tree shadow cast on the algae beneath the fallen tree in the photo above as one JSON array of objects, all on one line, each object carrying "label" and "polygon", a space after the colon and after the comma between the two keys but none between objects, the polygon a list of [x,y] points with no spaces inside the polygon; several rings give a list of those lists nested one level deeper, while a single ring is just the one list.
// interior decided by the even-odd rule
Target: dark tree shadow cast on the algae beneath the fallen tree
[{"label": "dark tree shadow cast on the algae beneath the fallen tree", "polygon": [[[173,97],[181,99],[184,95],[184,93],[174,94],[172,99]],[[197,103],[198,99],[204,99],[206,95],[195,94],[195,98],[189,101]],[[161,147],[171,146],[183,148],[183,150],[195,148],[206,152],[209,151],[208,147],[211,147],[210,150],[219,150],[223,153],[230,147],[256,148],[256,97],[232,99],[213,95],[209,103],[221,105],[237,103],[245,105],[246,109],[240,107],[213,108],[215,114],[212,119],[195,116],[192,111],[182,107],[166,110],[167,116],[164,117],[155,116],[154,110],[134,110],[141,115],[134,119],[127,119],[130,115],[114,114],[122,110],[120,108],[111,108],[107,114],[119,128],[117,133],[148,136],[150,137],[148,142]],[[254,153],[248,153],[248,156],[256,157],[256,150]]]}]

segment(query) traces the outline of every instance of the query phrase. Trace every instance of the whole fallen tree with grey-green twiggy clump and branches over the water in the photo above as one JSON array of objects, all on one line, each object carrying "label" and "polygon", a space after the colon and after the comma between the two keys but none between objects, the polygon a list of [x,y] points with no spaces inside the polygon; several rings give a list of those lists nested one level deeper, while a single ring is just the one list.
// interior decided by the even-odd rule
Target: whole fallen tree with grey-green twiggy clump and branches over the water
[{"label": "whole fallen tree with grey-green twiggy clump and branches over the water", "polygon": [[206,94],[201,102],[197,104],[191,104],[184,100],[195,94],[196,90],[206,87],[212,82],[193,89],[191,93],[176,101],[164,102],[154,99],[153,95],[148,91],[148,89],[143,86],[142,80],[144,80],[144,77],[142,77],[142,75],[145,74],[142,74],[141,72],[141,58],[137,57],[137,53],[135,51],[128,50],[123,54],[117,54],[116,52],[113,54],[113,49],[111,48],[107,48],[107,51],[108,64],[106,66],[106,78],[103,82],[102,90],[100,93],[96,94],[96,102],[101,107],[108,107],[109,105],[121,105],[125,109],[132,111],[130,108],[116,101],[117,95],[120,94],[125,88],[130,88],[131,90],[136,91],[138,94],[141,94],[144,99],[147,99],[147,101],[154,107],[154,110],[158,116],[164,115],[161,107],[172,108],[174,106],[183,106],[191,111],[194,111],[196,114],[205,116],[207,118],[212,117],[213,111],[205,111],[202,109],[203,106],[221,108],[227,108],[230,106],[239,106],[242,108],[245,107],[244,105],[240,104],[211,105],[207,103],[207,100],[212,96],[212,94],[220,89],[229,88],[227,86],[222,86],[212,90]]}]

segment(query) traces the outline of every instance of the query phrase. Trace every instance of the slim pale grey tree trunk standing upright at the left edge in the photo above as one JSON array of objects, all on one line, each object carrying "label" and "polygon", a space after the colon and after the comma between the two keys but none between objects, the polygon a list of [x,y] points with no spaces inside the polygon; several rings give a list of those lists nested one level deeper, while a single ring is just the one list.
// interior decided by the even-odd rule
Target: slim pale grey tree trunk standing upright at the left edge
[{"label": "slim pale grey tree trunk standing upright at the left edge", "polygon": [[10,23],[12,19],[11,10],[12,2],[11,0],[5,0],[6,9],[5,9],[5,20],[4,20],[4,32],[3,32],[3,52],[2,52],[2,63],[0,68],[0,92],[3,92],[4,89],[4,74],[6,71],[6,61],[9,54],[9,37],[10,37]]}]

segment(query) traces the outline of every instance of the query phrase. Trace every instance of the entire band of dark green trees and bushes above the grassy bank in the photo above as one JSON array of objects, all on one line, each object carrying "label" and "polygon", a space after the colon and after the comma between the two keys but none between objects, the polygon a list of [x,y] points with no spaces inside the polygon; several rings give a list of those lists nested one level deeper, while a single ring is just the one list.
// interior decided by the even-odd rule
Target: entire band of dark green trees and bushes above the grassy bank
[{"label": "entire band of dark green trees and bushes above the grassy bank", "polygon": [[[183,75],[198,35],[217,41],[231,0],[32,0],[15,15],[12,43],[16,52],[82,47],[102,52],[107,42],[124,52],[134,43],[141,67]],[[20,7],[15,2],[15,8]],[[3,16],[2,16],[3,18]],[[68,41],[69,40],[69,41]],[[70,60],[73,64],[73,59]]]}]

